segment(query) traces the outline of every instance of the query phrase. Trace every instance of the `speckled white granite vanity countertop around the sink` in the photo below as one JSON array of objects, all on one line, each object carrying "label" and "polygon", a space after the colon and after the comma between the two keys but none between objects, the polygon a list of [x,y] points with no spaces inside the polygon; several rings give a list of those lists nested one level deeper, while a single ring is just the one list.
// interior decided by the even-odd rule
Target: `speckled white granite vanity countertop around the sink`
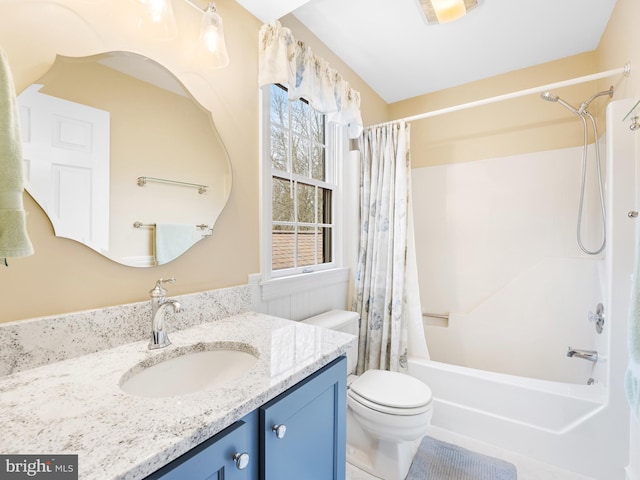
[{"label": "speckled white granite vanity countertop around the sink", "polygon": [[[140,479],[344,354],[355,337],[254,312],[0,377],[2,454],[77,454],[84,480]],[[142,398],[120,389],[140,362],[231,342],[258,353],[244,376],[195,393]]]}]

